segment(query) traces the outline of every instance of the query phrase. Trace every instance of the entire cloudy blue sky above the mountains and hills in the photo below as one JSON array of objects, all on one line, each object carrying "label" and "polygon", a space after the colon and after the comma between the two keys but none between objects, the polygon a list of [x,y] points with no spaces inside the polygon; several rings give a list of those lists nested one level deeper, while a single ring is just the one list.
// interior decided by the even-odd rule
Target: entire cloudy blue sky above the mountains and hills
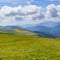
[{"label": "entire cloudy blue sky above the mountains and hills", "polygon": [[60,0],[0,0],[0,26],[60,22]]}]

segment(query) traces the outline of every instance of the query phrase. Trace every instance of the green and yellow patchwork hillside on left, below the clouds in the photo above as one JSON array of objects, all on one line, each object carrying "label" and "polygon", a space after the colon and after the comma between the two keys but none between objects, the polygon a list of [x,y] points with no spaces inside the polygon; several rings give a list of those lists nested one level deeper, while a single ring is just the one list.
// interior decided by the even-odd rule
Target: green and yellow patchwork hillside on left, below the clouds
[{"label": "green and yellow patchwork hillside on left, below the clouds", "polygon": [[10,34],[23,34],[23,35],[36,35],[33,32],[29,32],[17,26],[0,26],[0,33],[10,33]]}]

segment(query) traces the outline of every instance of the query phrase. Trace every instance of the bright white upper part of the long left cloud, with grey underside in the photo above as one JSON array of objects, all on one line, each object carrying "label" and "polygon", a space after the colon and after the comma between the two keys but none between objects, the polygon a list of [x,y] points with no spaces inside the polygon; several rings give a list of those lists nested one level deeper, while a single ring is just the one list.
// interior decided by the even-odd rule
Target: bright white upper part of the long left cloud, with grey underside
[{"label": "bright white upper part of the long left cloud, with grey underside", "polygon": [[[8,7],[7,7],[8,8]],[[5,8],[6,9],[6,8]],[[37,12],[40,12],[41,7],[37,7],[35,5],[28,5],[28,6],[18,6],[15,8],[9,9],[11,12],[7,13],[7,16],[15,16],[15,15],[20,15],[20,16],[25,16],[25,15],[33,15]]]}]

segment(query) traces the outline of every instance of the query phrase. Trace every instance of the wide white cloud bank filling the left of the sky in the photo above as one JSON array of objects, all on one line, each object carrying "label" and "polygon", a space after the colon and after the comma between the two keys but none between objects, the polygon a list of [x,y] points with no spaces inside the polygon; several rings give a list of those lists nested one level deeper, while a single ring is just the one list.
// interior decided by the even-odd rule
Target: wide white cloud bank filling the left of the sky
[{"label": "wide white cloud bank filling the left of the sky", "polygon": [[42,16],[41,7],[35,5],[18,6],[13,8],[4,6],[0,9],[0,23],[4,23],[4,25],[10,25],[10,23],[11,25],[35,24],[37,22],[33,21],[34,17],[36,20],[42,19],[38,19],[38,16]]}]

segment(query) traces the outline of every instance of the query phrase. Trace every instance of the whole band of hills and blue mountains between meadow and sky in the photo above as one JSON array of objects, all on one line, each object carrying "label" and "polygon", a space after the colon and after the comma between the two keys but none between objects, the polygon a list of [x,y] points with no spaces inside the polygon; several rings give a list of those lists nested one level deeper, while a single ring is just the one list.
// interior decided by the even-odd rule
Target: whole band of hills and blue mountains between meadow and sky
[{"label": "whole band of hills and blue mountains between meadow and sky", "polygon": [[36,25],[19,26],[0,26],[0,33],[38,35],[47,38],[60,37],[60,22],[43,22]]}]

